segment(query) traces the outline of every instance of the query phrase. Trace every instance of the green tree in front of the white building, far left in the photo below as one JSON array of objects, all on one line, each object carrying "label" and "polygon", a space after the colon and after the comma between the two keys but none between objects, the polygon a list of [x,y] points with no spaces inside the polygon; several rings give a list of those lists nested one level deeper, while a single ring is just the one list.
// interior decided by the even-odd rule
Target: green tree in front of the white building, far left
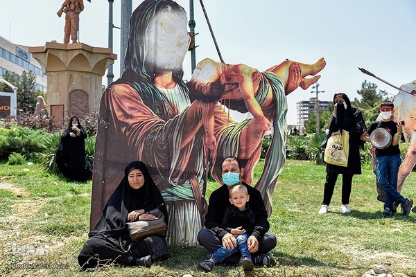
[{"label": "green tree in front of the white building, far left", "polygon": [[[3,78],[17,87],[17,109],[33,112],[36,108],[36,98],[42,92],[35,89],[36,74],[32,71],[23,71],[18,75],[15,72],[6,71]],[[12,91],[4,84],[0,84],[0,91]]]}]

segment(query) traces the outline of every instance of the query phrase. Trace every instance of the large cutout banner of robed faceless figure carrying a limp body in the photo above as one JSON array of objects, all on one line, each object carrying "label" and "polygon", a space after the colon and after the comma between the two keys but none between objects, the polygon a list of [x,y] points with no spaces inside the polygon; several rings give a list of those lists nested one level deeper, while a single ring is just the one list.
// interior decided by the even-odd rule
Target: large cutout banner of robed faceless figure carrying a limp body
[{"label": "large cutout banner of robed faceless figure carrying a limp body", "polygon": [[[251,185],[272,212],[272,193],[286,159],[286,95],[317,82],[320,75],[315,74],[325,61],[285,60],[260,72],[205,59],[185,84],[182,62],[191,40],[187,21],[184,9],[170,0],[145,0],[132,14],[125,71],[101,98],[91,229],[125,166],[140,160],[165,199],[168,244],[196,244],[207,212],[209,170],[220,186],[220,163],[235,156],[243,162],[243,181],[251,184],[269,127],[274,134],[263,174]],[[234,121],[228,109],[250,111],[253,117]]]}]

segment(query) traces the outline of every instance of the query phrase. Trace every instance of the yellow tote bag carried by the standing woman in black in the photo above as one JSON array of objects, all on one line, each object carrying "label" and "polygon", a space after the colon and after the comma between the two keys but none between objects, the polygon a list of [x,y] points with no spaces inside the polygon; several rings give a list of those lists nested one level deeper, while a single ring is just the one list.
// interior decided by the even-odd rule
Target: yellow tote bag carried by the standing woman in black
[{"label": "yellow tote bag carried by the standing woman in black", "polygon": [[348,166],[349,133],[343,129],[342,134],[330,136],[325,148],[324,161],[334,166]]}]

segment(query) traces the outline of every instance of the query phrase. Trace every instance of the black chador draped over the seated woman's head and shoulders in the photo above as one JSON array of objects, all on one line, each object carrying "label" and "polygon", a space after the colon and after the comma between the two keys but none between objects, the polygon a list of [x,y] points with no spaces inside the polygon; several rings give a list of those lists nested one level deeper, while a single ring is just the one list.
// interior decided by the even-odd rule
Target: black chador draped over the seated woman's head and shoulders
[{"label": "black chador draped over the seated woman's head and shoulders", "polygon": [[[137,190],[128,183],[128,174],[134,169],[140,170],[144,176],[144,185]],[[128,213],[139,209],[148,212],[154,208],[162,211],[167,224],[168,211],[164,199],[150,176],[147,166],[141,161],[132,161],[125,168],[123,179],[108,199],[103,213],[89,236],[105,232],[119,237],[123,232]]]}]

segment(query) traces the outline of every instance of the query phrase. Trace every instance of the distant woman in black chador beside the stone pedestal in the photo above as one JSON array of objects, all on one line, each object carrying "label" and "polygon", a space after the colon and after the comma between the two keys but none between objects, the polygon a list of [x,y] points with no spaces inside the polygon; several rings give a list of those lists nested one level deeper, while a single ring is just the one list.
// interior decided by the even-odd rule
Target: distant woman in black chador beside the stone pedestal
[{"label": "distant woman in black chador beside the stone pedestal", "polygon": [[76,181],[88,179],[85,169],[85,139],[87,139],[87,133],[80,120],[76,116],[71,116],[56,152],[56,164],[62,175],[68,179]]}]

